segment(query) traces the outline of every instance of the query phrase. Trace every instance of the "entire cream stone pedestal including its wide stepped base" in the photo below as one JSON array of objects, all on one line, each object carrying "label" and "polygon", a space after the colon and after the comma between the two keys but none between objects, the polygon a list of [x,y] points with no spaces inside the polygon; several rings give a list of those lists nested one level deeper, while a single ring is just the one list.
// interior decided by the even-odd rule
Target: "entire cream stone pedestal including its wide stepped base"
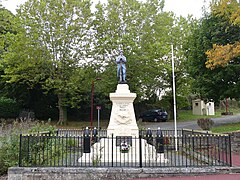
[{"label": "entire cream stone pedestal including its wide stepped base", "polygon": [[[116,92],[110,93],[113,104],[107,128],[108,137],[101,138],[91,146],[90,153],[83,153],[78,159],[79,163],[87,163],[90,166],[105,163],[111,163],[113,166],[134,163],[135,166],[139,166],[140,163],[144,163],[150,166],[153,162],[168,162],[164,158],[164,153],[157,153],[154,146],[148,144],[145,139],[139,139],[139,129],[133,108],[136,96],[136,93],[130,92],[127,84],[118,84]],[[130,145],[127,152],[121,151],[122,141]]]}]

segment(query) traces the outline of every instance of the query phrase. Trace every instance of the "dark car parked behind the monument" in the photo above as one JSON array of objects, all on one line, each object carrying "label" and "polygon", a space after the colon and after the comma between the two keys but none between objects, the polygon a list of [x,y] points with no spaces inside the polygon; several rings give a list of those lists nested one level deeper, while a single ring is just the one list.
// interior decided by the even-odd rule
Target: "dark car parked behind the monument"
[{"label": "dark car parked behind the monument", "polygon": [[139,116],[139,121],[166,122],[168,113],[164,109],[151,109]]}]

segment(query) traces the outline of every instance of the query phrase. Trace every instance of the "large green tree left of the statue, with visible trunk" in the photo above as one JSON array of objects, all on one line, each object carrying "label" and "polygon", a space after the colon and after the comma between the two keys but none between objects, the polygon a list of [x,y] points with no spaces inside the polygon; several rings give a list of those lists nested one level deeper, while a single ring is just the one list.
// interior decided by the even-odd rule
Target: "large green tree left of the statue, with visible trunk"
[{"label": "large green tree left of the statue, with visible trunk", "polygon": [[66,117],[67,97],[82,87],[82,69],[90,58],[90,7],[88,0],[29,0],[17,11],[18,33],[5,35],[10,46],[4,55],[4,77],[9,83],[53,90],[60,123]]}]

